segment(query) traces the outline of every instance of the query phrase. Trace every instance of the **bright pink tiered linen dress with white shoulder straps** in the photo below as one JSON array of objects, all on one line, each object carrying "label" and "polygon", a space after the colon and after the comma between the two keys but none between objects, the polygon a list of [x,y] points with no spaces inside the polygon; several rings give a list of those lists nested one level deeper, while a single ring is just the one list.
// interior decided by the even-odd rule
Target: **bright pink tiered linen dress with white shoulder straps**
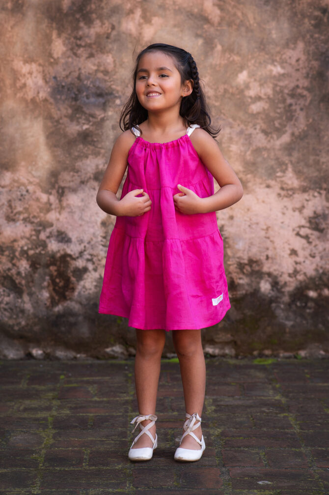
[{"label": "bright pink tiered linen dress with white shoulder straps", "polygon": [[187,134],[169,143],[137,139],[128,153],[123,198],[143,189],[150,211],[117,217],[107,251],[99,312],[128,318],[142,330],[200,329],[215,325],[231,307],[216,213],[175,210],[178,184],[199,197],[214,181]]}]

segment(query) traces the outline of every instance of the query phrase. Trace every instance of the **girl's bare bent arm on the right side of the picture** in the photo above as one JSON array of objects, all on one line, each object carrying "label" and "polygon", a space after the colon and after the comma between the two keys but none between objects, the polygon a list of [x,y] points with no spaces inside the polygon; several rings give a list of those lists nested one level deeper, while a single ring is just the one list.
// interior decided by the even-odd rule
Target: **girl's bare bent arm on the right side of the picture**
[{"label": "girl's bare bent arm on the right side of the picture", "polygon": [[195,129],[191,141],[201,161],[218,182],[220,190],[208,198],[199,198],[184,185],[178,185],[182,192],[174,196],[176,209],[185,214],[208,213],[236,203],[242,198],[242,185],[215,140],[203,129]]}]

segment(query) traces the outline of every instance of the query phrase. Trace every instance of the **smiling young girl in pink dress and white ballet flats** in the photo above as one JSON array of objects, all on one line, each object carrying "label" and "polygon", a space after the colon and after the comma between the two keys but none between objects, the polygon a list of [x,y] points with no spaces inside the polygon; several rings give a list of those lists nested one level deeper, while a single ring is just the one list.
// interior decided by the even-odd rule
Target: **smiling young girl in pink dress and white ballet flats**
[{"label": "smiling young girl in pink dress and white ballet flats", "polygon": [[[242,197],[242,186],[213,136],[195,61],[184,49],[143,49],[97,203],[116,215],[99,312],[136,328],[135,385],[141,432],[129,450],[148,460],[157,446],[156,394],[165,332],[173,330],[186,421],[178,461],[205,449],[201,415],[205,361],[201,329],[230,308],[216,211]],[[116,197],[128,165],[121,199]],[[214,194],[216,179],[220,190]],[[135,431],[135,430],[134,430]]]}]

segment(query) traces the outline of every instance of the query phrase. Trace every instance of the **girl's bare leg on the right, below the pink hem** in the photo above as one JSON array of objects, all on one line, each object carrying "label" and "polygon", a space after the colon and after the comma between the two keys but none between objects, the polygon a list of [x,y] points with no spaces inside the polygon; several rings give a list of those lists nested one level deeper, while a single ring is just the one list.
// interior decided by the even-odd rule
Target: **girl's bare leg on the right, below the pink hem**
[{"label": "girl's bare leg on the right, below the pink hem", "polygon": [[[180,362],[186,412],[188,414],[197,412],[201,418],[206,386],[201,330],[174,330],[173,343]],[[193,433],[201,440],[201,426]],[[181,447],[192,450],[200,448],[190,435],[183,439]]]}]

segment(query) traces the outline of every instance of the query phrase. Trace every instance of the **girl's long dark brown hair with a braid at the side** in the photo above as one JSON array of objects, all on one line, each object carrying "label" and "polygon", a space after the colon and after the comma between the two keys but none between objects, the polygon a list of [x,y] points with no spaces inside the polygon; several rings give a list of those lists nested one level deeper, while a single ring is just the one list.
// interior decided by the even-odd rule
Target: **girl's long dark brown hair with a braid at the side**
[{"label": "girl's long dark brown hair with a braid at the side", "polygon": [[193,82],[192,93],[183,98],[181,102],[180,115],[183,117],[185,125],[188,127],[191,124],[198,124],[211,136],[217,136],[220,128],[215,129],[211,126],[211,119],[208,112],[206,99],[200,85],[199,73],[194,58],[190,53],[188,53],[188,51],[182,48],[163,43],[154,43],[153,45],[149,45],[138,54],[133,75],[134,87],[129,100],[122,109],[120,116],[120,128],[123,131],[127,131],[128,129],[131,130],[132,127],[138,127],[139,124],[147,119],[147,110],[145,110],[139,102],[135,87],[139,61],[142,55],[149,51],[162,51],[163,53],[170,55],[174,59],[176,68],[181,74],[182,84],[188,80]]}]

